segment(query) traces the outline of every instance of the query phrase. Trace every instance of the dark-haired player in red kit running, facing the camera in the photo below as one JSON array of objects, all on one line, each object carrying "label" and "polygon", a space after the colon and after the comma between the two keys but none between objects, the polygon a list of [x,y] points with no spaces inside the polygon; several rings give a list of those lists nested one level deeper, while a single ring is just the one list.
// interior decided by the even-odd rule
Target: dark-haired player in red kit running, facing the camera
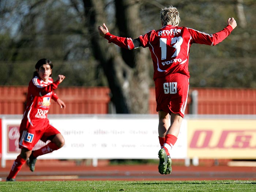
[{"label": "dark-haired player in red kit running, facing the camera", "polygon": [[[53,91],[64,80],[64,75],[59,75],[53,82],[53,64],[49,59],[40,59],[35,64],[36,71],[33,79],[29,82],[26,110],[24,112],[19,128],[19,148],[21,152],[14,161],[6,181],[15,181],[15,177],[22,165],[29,165],[30,170],[35,170],[35,162],[39,155],[51,153],[60,149],[65,141],[60,132],[49,124],[47,113],[50,108],[51,99],[56,101],[61,108],[65,109],[65,103]],[[41,149],[32,151],[35,144],[41,139],[50,142]]]}]

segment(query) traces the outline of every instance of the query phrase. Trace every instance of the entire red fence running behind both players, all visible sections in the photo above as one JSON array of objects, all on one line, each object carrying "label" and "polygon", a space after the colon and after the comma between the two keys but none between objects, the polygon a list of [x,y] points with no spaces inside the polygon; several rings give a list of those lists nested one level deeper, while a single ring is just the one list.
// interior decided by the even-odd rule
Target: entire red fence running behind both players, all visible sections
[{"label": "entire red fence running behind both players, all visible sections", "polygon": [[[185,114],[189,114],[191,93],[198,91],[198,114],[256,114],[256,89],[191,88]],[[110,90],[107,87],[58,88],[66,109],[52,102],[49,114],[107,114]],[[0,114],[23,114],[26,86],[0,86]],[[150,88],[149,113],[156,114],[155,90]]]}]

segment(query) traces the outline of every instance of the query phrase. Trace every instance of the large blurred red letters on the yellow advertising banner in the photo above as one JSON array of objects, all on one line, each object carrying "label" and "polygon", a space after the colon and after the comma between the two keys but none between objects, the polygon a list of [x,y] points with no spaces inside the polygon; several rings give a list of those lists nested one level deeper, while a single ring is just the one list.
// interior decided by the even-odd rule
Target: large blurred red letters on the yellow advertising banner
[{"label": "large blurred red letters on the yellow advertising banner", "polygon": [[[253,133],[256,133],[256,130],[228,130],[222,131],[221,136],[218,138],[216,146],[210,146],[213,131],[211,130],[196,130],[191,139],[190,147],[191,148],[221,148],[221,149],[245,149],[250,148],[254,149],[256,146],[252,146]],[[203,137],[204,136],[204,137]],[[203,140],[202,144],[199,145],[199,138]],[[229,138],[229,140],[228,140]],[[227,142],[228,141],[228,142]],[[226,144],[226,145],[225,145]],[[228,145],[227,145],[228,144]]]}]

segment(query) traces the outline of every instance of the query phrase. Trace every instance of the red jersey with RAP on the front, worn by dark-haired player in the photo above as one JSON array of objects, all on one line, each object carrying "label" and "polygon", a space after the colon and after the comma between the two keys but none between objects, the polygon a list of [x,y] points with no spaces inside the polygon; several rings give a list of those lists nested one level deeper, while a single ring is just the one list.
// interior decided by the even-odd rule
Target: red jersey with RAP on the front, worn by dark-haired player
[{"label": "red jersey with RAP on the front, worn by dark-haired player", "polygon": [[54,101],[58,99],[58,96],[53,91],[59,84],[59,81],[53,82],[51,77],[48,82],[44,82],[37,76],[29,82],[26,110],[20,124],[21,128],[36,127],[48,121],[47,113],[51,99]]}]

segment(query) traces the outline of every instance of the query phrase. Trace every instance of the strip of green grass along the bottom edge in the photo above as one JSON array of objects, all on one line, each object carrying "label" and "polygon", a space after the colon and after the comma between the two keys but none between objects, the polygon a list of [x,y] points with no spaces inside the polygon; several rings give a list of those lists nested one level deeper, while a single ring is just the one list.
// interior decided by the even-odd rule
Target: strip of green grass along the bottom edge
[{"label": "strip of green grass along the bottom edge", "polygon": [[7,192],[255,192],[256,181],[16,181],[0,182]]}]

